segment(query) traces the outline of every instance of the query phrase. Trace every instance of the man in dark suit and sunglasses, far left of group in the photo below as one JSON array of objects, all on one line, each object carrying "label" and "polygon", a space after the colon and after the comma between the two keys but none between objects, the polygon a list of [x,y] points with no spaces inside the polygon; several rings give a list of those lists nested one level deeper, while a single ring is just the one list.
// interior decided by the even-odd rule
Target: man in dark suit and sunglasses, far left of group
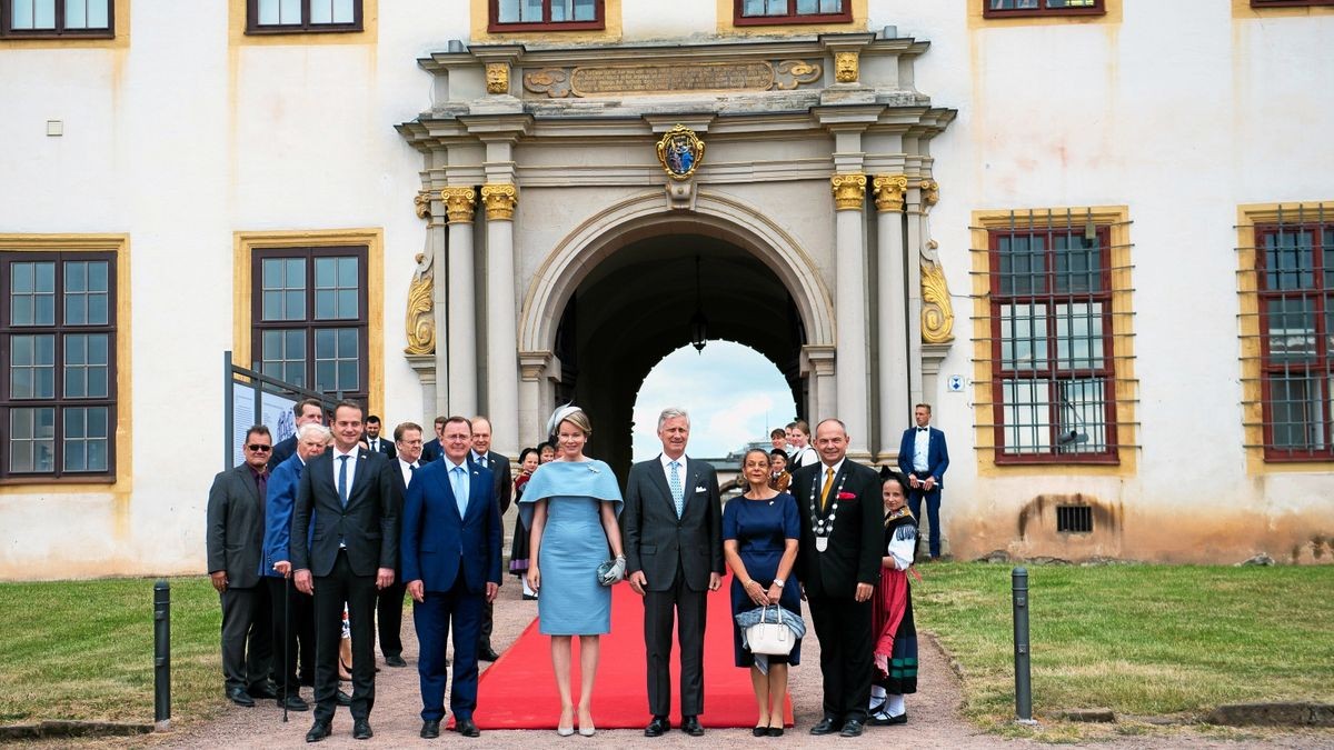
[{"label": "man in dark suit and sunglasses, far left of group", "polygon": [[227,698],[253,706],[273,698],[273,641],[268,587],[259,575],[264,548],[264,495],[273,438],[256,424],[245,432],[245,462],[213,478],[208,490],[208,577],[223,606],[223,681]]}]

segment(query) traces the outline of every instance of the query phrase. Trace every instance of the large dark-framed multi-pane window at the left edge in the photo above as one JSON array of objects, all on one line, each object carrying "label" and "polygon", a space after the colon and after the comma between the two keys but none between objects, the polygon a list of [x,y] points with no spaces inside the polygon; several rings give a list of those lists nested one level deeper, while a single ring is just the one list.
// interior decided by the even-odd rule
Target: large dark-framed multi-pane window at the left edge
[{"label": "large dark-framed multi-pane window at the left edge", "polygon": [[0,476],[116,475],[116,256],[0,254]]}]

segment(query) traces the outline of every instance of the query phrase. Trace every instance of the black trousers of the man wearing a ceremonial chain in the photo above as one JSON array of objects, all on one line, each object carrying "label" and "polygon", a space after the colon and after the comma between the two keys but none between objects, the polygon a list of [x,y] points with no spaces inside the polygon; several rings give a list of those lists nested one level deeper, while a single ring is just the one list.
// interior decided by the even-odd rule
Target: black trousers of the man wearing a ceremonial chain
[{"label": "black trousers of the man wearing a ceremonial chain", "polygon": [[874,646],[871,602],[851,597],[810,597],[815,635],[820,639],[824,718],[866,721],[871,701]]}]

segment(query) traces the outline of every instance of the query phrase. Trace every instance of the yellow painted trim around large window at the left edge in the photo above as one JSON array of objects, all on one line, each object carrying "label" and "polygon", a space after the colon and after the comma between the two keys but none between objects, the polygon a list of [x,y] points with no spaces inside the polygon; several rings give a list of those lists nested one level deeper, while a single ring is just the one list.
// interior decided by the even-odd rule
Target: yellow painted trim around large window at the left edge
[{"label": "yellow painted trim around large window at the left edge", "polygon": [[131,372],[129,235],[0,235],[4,252],[96,251],[116,254],[116,479],[113,482],[21,482],[0,486],[0,495],[100,495],[128,503],[133,488],[133,378]]}]

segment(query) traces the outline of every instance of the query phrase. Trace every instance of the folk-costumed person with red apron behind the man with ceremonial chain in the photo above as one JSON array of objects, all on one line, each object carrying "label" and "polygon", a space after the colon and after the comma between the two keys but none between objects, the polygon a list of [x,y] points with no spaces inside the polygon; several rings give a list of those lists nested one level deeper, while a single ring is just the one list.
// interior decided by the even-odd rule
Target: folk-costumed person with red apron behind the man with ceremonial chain
[{"label": "folk-costumed person with red apron behind the man with ceremonial chain", "polygon": [[903,695],[916,693],[916,625],[912,622],[912,591],[907,577],[916,550],[916,520],[904,506],[906,498],[903,478],[890,474],[882,486],[884,556],[880,559],[880,582],[871,598],[875,671],[867,723],[879,726],[907,723]]}]

